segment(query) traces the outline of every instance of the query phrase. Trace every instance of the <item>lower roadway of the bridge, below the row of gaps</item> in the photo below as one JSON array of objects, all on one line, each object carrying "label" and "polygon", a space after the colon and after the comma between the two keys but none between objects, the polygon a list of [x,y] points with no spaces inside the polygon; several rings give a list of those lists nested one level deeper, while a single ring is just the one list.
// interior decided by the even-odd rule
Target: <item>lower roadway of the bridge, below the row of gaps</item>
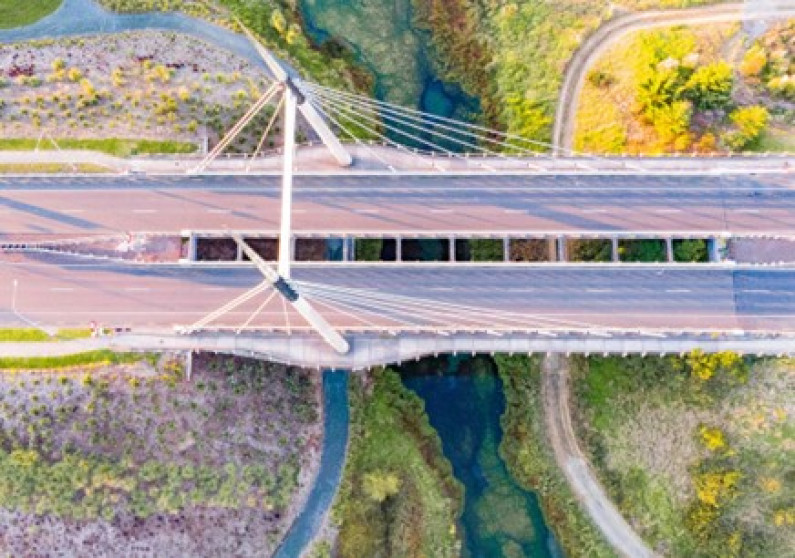
[{"label": "lower roadway of the bridge, below the row of gaps", "polygon": [[[61,327],[97,320],[137,328],[191,324],[260,280],[250,268],[71,265],[75,260],[23,255],[13,260],[5,257],[0,263],[0,325],[21,323],[11,307],[14,279],[17,310],[28,319]],[[302,282],[421,299],[414,308],[397,302],[389,318],[376,316],[367,300],[356,302],[361,297],[340,304],[305,291],[332,323],[349,329],[415,329],[411,324],[431,323],[421,317],[423,311],[446,303],[491,309],[500,316],[478,310],[456,316],[440,312],[436,323],[450,329],[513,325],[515,330],[609,326],[795,331],[792,269],[302,266],[294,276]],[[251,300],[218,325],[242,325],[264,300]],[[285,316],[291,328],[303,327],[278,298],[253,323],[283,329]]]}]

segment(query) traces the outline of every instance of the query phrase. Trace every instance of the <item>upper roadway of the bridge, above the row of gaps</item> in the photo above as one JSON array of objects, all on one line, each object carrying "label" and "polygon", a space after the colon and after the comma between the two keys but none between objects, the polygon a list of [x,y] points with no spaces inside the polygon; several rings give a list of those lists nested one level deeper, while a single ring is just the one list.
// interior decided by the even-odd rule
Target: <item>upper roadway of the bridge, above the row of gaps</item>
[{"label": "upper roadway of the bridge, above the row of gaps", "polygon": [[[304,234],[795,235],[792,175],[301,176]],[[275,234],[279,177],[0,179],[0,239],[235,229]]]}]

